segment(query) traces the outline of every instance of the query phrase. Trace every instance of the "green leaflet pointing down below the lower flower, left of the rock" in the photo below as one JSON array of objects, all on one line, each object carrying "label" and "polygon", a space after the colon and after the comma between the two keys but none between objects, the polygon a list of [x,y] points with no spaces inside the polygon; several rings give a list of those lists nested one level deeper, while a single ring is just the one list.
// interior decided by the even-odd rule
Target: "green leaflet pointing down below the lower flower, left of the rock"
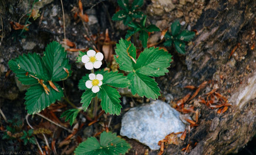
[{"label": "green leaflet pointing down below the lower flower, left of the rock", "polygon": [[99,98],[101,98],[101,107],[106,113],[119,115],[121,112],[121,104],[119,98],[121,97],[118,91],[106,84],[101,85],[101,89],[98,92]]}]

